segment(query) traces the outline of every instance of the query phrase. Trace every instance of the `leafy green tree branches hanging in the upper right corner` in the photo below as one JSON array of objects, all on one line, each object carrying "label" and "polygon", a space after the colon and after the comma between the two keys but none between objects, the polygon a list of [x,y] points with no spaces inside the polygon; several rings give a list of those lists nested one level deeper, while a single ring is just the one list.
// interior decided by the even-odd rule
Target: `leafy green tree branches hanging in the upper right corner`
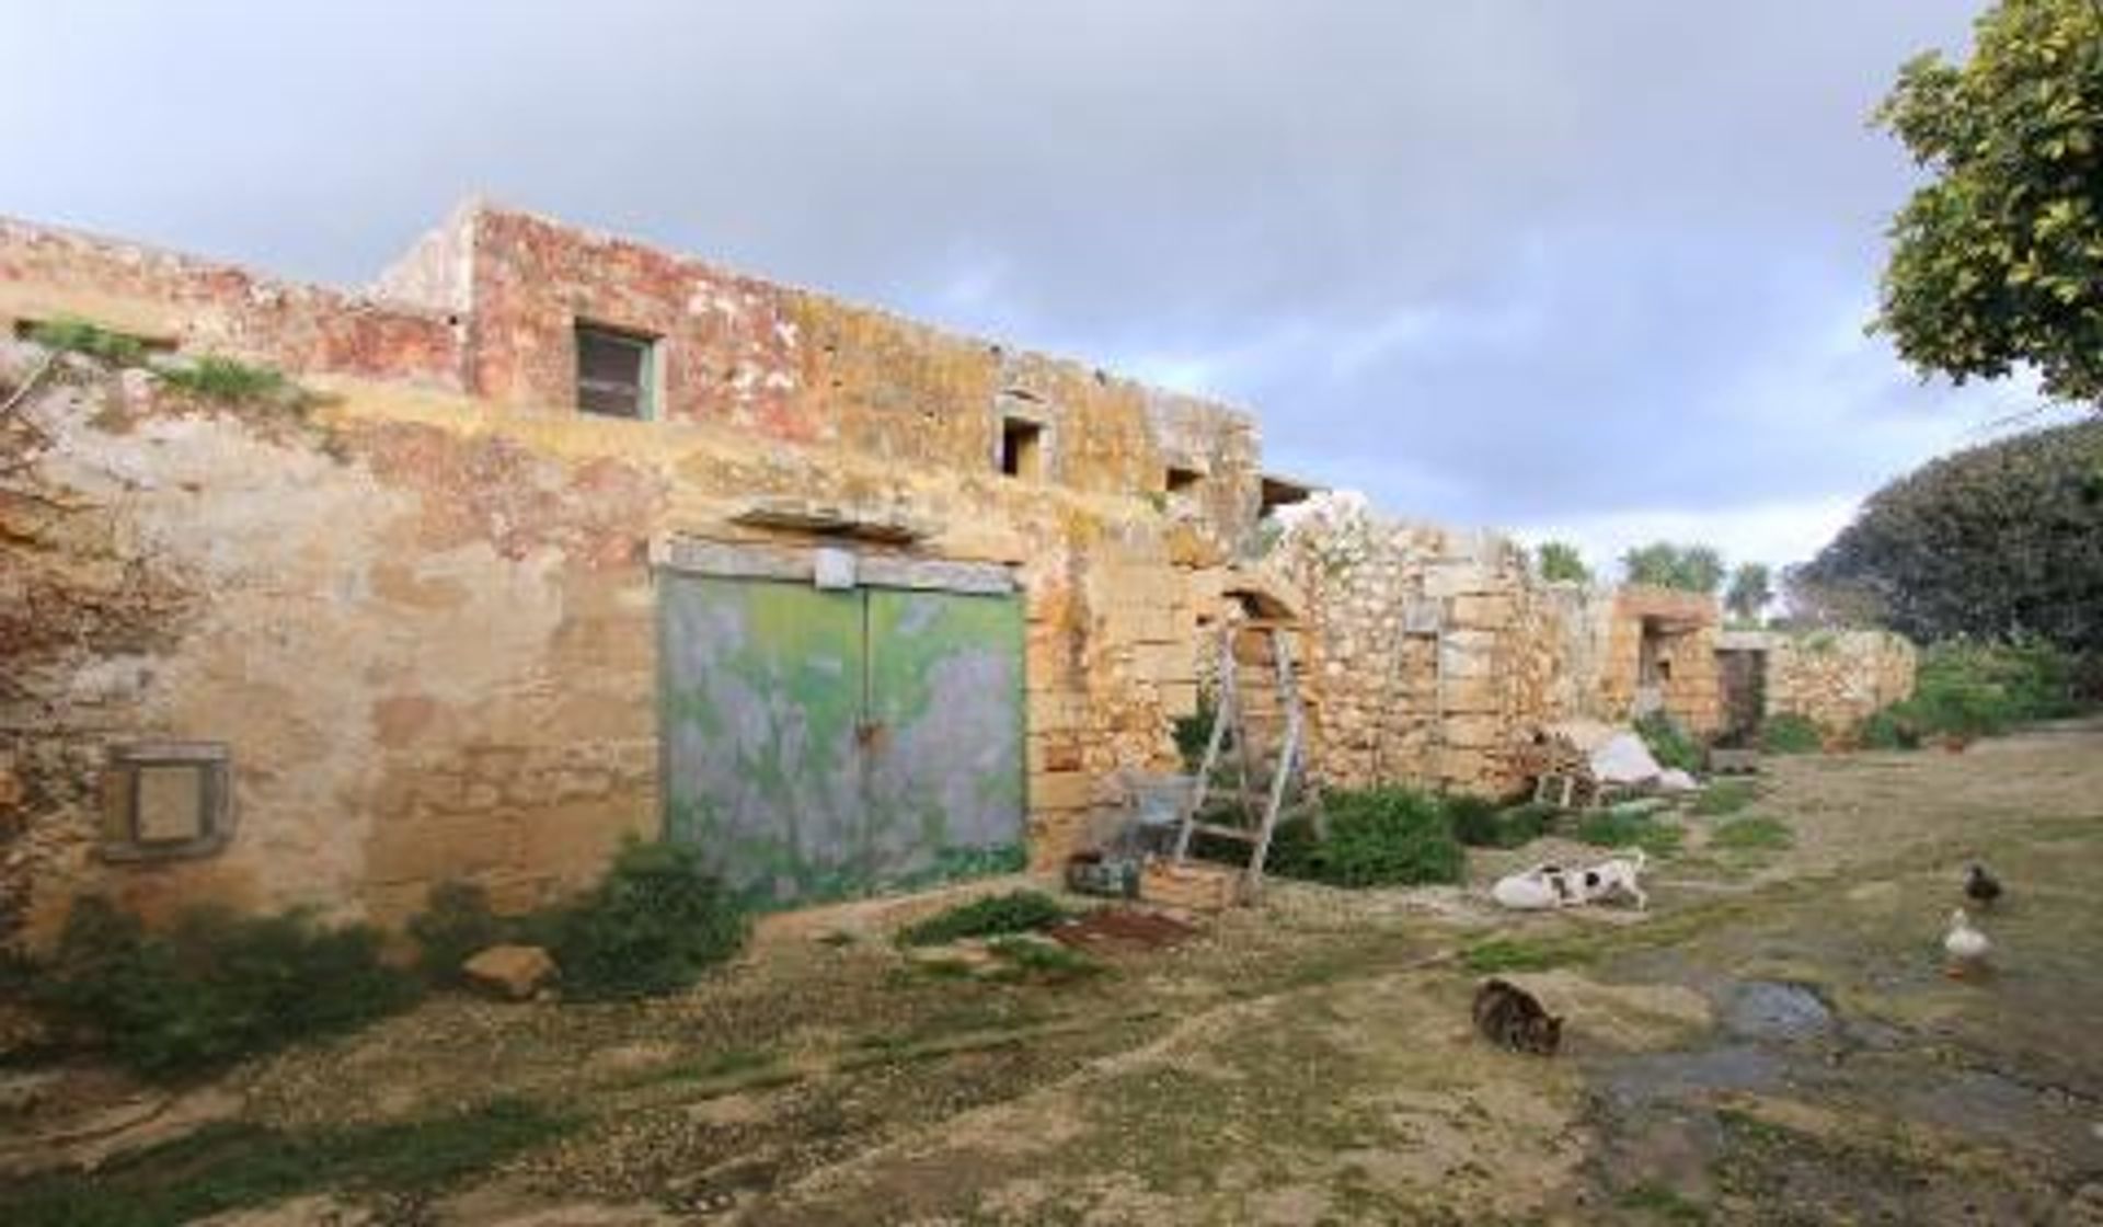
[{"label": "leafy green tree branches hanging in the upper right corner", "polygon": [[2103,4],[2002,0],[1968,61],[1910,61],[1876,122],[1931,179],[1891,223],[1874,326],[1922,375],[2027,364],[2103,402]]}]

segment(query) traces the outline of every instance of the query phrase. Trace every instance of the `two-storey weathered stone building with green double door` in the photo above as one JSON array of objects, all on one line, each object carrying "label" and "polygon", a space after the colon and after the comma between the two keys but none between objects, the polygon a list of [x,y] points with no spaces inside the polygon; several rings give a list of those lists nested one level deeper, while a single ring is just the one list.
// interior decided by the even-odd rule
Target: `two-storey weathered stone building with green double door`
[{"label": "two-storey weathered stone building with green double door", "polygon": [[366,295],[0,223],[59,320],[311,396],[11,343],[0,937],[528,905],[629,833],[770,905],[1058,863],[1266,497],[1241,410],[484,204]]}]

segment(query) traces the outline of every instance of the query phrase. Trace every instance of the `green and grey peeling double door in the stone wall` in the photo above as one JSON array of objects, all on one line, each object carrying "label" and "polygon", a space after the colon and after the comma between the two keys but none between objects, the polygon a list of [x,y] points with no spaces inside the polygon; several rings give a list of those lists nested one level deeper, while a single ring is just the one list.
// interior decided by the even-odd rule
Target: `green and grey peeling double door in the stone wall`
[{"label": "green and grey peeling double door in the stone wall", "polygon": [[667,575],[667,833],[761,907],[1022,863],[1012,596]]}]

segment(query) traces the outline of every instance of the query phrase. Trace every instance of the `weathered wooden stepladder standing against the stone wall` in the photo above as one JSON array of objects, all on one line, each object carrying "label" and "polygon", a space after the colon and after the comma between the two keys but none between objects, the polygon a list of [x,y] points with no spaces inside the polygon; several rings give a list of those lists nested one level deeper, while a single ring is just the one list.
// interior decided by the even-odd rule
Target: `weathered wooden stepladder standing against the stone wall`
[{"label": "weathered wooden stepladder standing against the stone wall", "polygon": [[[1264,861],[1270,857],[1270,838],[1279,829],[1279,819],[1312,808],[1321,821],[1321,804],[1314,787],[1306,779],[1306,711],[1300,705],[1300,682],[1293,673],[1293,652],[1289,623],[1270,619],[1249,619],[1228,625],[1220,633],[1220,703],[1211,720],[1211,737],[1205,739],[1205,758],[1197,768],[1197,785],[1184,798],[1182,825],[1176,831],[1176,863],[1190,859],[1190,838],[1197,833],[1237,840],[1249,844],[1247,892],[1258,897],[1264,888]],[[1243,648],[1255,644],[1270,657],[1268,678],[1243,678]],[[1255,652],[1249,652],[1255,655]],[[1268,695],[1266,695],[1268,690]],[[1264,753],[1249,735],[1251,724],[1277,726],[1274,753]],[[1234,777],[1228,787],[1213,787],[1220,766],[1228,764]],[[1268,779],[1264,770],[1268,768]],[[1289,793],[1298,793],[1291,800]],[[1228,798],[1241,806],[1243,823],[1205,821],[1205,802]],[[1262,806],[1262,808],[1255,808]]]}]

